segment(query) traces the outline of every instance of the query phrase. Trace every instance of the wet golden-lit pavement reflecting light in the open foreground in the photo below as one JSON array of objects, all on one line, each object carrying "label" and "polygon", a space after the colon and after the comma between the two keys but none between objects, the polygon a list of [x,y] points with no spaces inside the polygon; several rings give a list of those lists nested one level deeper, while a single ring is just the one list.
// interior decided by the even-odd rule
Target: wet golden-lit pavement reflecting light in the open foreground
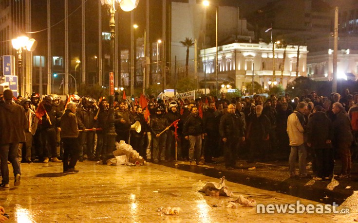
[{"label": "wet golden-lit pavement reflecting light in the open foreground", "polygon": [[[63,174],[61,163],[21,164],[21,185],[0,189],[0,205],[9,222],[100,223],[227,223],[227,222],[353,222],[358,213],[257,214],[255,207],[226,208],[235,198],[208,197],[198,192],[206,181],[202,174],[162,165],[139,167],[79,163],[79,173]],[[9,166],[12,172],[11,166]],[[250,196],[258,204],[318,204],[282,193],[226,181],[234,194]],[[348,203],[347,203],[348,204]],[[348,204],[349,205],[349,204]],[[357,202],[351,199],[351,206]],[[157,212],[158,207],[180,207],[175,216]],[[217,207],[213,207],[217,206]]]}]

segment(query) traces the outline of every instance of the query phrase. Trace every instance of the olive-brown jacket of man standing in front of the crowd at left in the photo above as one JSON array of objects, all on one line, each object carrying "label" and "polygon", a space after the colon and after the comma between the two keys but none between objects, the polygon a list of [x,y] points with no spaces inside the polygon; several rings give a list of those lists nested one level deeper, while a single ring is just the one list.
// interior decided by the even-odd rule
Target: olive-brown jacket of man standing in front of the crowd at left
[{"label": "olive-brown jacket of man standing in front of the crowd at left", "polygon": [[76,138],[78,137],[77,117],[70,109],[66,109],[60,121],[61,138]]}]

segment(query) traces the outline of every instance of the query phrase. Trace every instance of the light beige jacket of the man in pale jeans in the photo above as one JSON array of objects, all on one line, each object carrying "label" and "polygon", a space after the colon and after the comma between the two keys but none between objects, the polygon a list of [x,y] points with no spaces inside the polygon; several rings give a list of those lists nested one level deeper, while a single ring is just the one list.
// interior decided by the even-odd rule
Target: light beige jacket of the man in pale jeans
[{"label": "light beige jacket of the man in pale jeans", "polygon": [[300,146],[304,143],[304,124],[302,119],[304,119],[304,117],[298,111],[294,111],[290,116],[288,116],[286,131],[288,137],[290,138],[290,146]]}]

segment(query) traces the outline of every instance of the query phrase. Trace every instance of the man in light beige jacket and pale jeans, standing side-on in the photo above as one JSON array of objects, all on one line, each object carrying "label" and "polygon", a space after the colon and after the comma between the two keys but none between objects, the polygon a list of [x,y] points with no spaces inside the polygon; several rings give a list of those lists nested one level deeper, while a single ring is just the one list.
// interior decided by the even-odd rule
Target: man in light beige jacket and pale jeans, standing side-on
[{"label": "man in light beige jacket and pale jeans, standing side-on", "polygon": [[288,160],[290,176],[296,176],[296,158],[299,154],[299,177],[306,177],[306,156],[307,151],[304,146],[303,132],[305,127],[304,114],[307,111],[307,104],[300,102],[294,111],[287,119],[287,133],[290,138],[291,153]]}]

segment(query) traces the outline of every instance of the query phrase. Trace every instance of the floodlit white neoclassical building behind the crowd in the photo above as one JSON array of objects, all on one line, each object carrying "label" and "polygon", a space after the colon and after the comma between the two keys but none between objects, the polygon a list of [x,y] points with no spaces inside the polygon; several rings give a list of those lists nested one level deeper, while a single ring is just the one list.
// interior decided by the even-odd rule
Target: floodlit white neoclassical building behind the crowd
[{"label": "floodlit white neoclassical building behind the crowd", "polygon": [[[275,60],[272,58],[273,51]],[[219,46],[219,88],[222,84],[229,84],[242,89],[245,83],[252,81],[252,75],[254,75],[254,81],[264,88],[269,87],[268,83],[274,81],[280,83],[281,79],[283,87],[286,87],[287,83],[297,76],[307,76],[307,53],[306,46],[288,45],[284,48],[277,43],[232,43]],[[199,74],[199,80],[206,78],[207,88],[213,89],[217,82],[216,48],[201,50],[199,57],[204,70]],[[275,66],[273,66],[273,61],[275,61]],[[297,63],[299,63],[298,70]],[[273,71],[275,71],[275,77]]]}]

